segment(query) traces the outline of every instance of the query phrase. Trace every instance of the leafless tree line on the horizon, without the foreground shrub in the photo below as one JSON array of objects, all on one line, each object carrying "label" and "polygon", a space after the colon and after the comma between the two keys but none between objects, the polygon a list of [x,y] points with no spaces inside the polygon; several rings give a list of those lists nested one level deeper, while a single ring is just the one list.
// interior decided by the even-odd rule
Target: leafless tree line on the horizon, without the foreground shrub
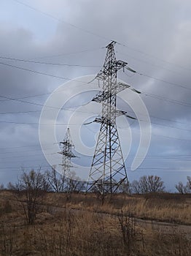
[{"label": "leafless tree line on the horizon, without the foreground shrub", "polygon": [[[106,185],[105,185],[106,186]],[[40,168],[38,170],[31,170],[23,173],[17,178],[15,184],[9,182],[7,189],[14,191],[24,191],[28,187],[32,189],[38,188],[46,192],[85,192],[86,181],[82,181],[74,171],[70,171],[69,175],[63,176],[52,167],[42,173]],[[177,192],[180,194],[187,194],[191,192],[191,177],[187,176],[186,184],[179,181],[175,185]],[[0,190],[5,189],[3,184],[0,184]],[[93,187],[91,192],[96,192],[97,189]],[[129,194],[146,194],[152,192],[165,192],[165,185],[162,178],[159,176],[141,176],[139,180],[132,182],[122,182],[117,192],[125,192]]]}]

